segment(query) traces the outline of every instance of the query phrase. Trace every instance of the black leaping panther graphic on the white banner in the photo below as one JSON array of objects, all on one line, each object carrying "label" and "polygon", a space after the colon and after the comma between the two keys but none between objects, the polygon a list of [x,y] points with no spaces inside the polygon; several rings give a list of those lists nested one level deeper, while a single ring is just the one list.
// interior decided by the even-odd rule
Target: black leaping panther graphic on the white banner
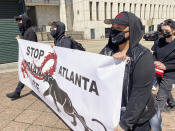
[{"label": "black leaping panther graphic on the white banner", "polygon": [[[55,104],[58,112],[61,112],[61,110],[59,109],[59,107],[57,105],[57,102],[63,106],[64,112],[73,118],[73,121],[71,123],[74,126],[77,125],[77,121],[76,121],[76,118],[77,118],[77,119],[79,119],[79,121],[84,126],[85,131],[93,131],[92,129],[90,129],[87,126],[84,117],[81,116],[80,114],[78,114],[78,112],[76,111],[76,109],[72,105],[72,102],[71,102],[68,94],[66,92],[64,92],[58,86],[56,80],[51,75],[46,74],[44,76],[44,81],[49,83],[49,88],[44,92],[43,96],[44,97],[48,96],[48,95],[52,96],[52,98],[54,100],[54,104]],[[97,123],[99,123],[104,128],[105,131],[107,131],[107,129],[104,126],[104,124],[101,123],[99,120],[92,119],[92,121],[96,121]]]}]

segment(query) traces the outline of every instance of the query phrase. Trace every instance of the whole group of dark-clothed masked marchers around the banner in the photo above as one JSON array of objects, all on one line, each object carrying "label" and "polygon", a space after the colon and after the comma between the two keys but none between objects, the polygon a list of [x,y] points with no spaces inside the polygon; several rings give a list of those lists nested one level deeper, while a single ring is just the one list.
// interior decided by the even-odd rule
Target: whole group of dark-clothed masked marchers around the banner
[{"label": "whole group of dark-clothed masked marchers around the banner", "polygon": [[[21,38],[37,41],[31,28],[31,19],[25,15],[16,17]],[[121,117],[114,131],[161,131],[162,111],[175,110],[171,90],[175,83],[175,21],[163,21],[158,28],[159,38],[152,52],[140,44],[144,28],[141,20],[130,12],[121,12],[114,19],[107,19],[111,31],[107,45],[100,54],[126,60],[122,92]],[[65,24],[50,22],[51,46],[85,51],[82,45],[65,36]],[[17,39],[20,38],[17,36]],[[147,68],[145,68],[147,65]],[[153,82],[158,92],[152,94]],[[19,82],[14,92],[7,94],[11,99],[20,98],[24,84]]]}]

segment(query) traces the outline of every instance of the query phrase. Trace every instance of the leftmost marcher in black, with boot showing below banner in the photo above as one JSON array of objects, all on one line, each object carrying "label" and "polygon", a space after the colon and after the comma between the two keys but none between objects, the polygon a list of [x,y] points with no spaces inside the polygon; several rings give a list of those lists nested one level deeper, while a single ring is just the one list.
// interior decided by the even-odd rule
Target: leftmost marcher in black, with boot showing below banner
[{"label": "leftmost marcher in black, with boot showing below banner", "polygon": [[[19,31],[21,33],[21,37],[24,40],[37,42],[36,33],[32,29],[31,19],[25,15],[19,15],[19,16],[15,17],[15,19],[18,22],[18,28],[19,28]],[[20,38],[19,36],[16,37],[16,39],[19,39],[19,38]],[[23,87],[24,87],[24,84],[19,81],[16,90],[12,93],[6,94],[6,96],[9,98],[12,98],[12,99],[19,98]]]}]

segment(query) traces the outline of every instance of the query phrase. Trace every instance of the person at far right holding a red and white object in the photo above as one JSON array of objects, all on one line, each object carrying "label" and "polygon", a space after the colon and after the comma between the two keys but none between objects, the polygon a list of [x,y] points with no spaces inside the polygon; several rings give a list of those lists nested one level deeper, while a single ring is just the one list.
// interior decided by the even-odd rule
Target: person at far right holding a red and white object
[{"label": "person at far right holding a red and white object", "polygon": [[157,77],[159,90],[156,102],[160,111],[175,109],[171,90],[175,80],[175,21],[168,19],[161,26],[163,37],[155,41],[152,51],[157,69],[164,72]]}]

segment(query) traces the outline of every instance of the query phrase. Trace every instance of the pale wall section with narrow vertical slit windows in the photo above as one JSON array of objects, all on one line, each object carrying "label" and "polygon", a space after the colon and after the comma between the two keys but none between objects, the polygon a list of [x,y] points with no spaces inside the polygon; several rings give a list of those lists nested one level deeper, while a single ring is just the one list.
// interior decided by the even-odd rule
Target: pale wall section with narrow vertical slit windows
[{"label": "pale wall section with narrow vertical slit windows", "polygon": [[[90,19],[90,6],[92,2],[92,19]],[[99,19],[97,19],[97,5],[99,2]],[[100,39],[105,35],[105,28],[110,28],[111,25],[104,24],[105,20],[105,2],[106,18],[114,18],[121,11],[129,11],[138,16],[143,25],[145,32],[149,31],[149,26],[157,25],[165,19],[175,19],[175,1],[174,0],[74,0],[74,26],[75,31],[84,31],[86,39],[91,38],[91,29],[95,30],[95,39]]]}]

